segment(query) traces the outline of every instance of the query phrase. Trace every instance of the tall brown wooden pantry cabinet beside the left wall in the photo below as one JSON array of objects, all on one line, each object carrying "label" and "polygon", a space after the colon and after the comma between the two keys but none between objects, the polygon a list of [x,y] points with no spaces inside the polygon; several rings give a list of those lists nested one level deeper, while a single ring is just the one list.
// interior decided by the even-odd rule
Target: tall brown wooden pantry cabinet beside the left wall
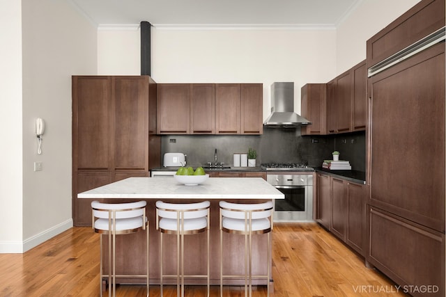
[{"label": "tall brown wooden pantry cabinet beside the left wall", "polygon": [[156,83],[140,77],[72,77],[72,216],[91,225],[91,200],[77,193],[160,166]]}]

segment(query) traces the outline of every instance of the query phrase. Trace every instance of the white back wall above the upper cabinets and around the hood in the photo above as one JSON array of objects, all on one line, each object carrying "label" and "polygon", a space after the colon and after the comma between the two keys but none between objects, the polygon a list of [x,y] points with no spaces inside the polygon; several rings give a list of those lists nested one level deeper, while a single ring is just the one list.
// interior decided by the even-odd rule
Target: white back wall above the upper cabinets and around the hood
[{"label": "white back wall above the upper cabinets and around the hood", "polygon": [[[128,35],[139,45],[139,33]],[[123,38],[123,31],[99,31],[98,73],[129,73],[126,65],[110,64],[123,53],[112,52],[109,44]],[[259,82],[264,86],[263,118],[269,115],[270,85],[274,81],[295,82],[295,111],[300,112],[300,88],[305,83],[321,83],[334,77],[334,31],[302,30],[174,30],[151,32],[151,76],[158,83]],[[140,57],[139,47],[128,52]],[[128,57],[126,57],[127,59]],[[131,63],[130,67],[133,67]],[[132,68],[133,69],[133,68]]]}]

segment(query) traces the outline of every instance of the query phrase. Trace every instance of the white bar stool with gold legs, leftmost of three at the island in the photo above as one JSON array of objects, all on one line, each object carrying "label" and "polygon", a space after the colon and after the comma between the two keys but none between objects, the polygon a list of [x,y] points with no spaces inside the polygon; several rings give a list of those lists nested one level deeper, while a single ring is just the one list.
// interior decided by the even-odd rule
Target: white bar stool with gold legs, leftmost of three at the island
[{"label": "white bar stool with gold legs, leftmost of three at the island", "polygon": [[[116,276],[118,278],[146,278],[148,296],[148,219],[146,217],[146,201],[130,203],[101,203],[93,201],[91,202],[91,208],[93,210],[91,226],[96,233],[100,234],[100,296],[102,297],[102,278],[107,276],[107,274],[102,274],[102,235],[107,234],[109,237],[109,296],[112,294],[112,282],[113,296],[116,296]],[[146,230],[146,274],[116,275],[116,234],[130,234],[139,230]]]}]

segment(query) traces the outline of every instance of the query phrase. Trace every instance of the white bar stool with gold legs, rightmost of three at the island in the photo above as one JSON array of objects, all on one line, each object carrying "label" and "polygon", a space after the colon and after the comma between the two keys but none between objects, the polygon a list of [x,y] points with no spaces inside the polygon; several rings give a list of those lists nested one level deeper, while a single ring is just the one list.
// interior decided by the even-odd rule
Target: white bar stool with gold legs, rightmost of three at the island
[{"label": "white bar stool with gold legs, rightmost of three at the island", "polygon": [[[220,296],[223,296],[223,279],[237,278],[243,275],[223,274],[223,232],[243,234],[245,236],[245,296],[249,279],[249,296],[252,296],[252,278],[266,278],[268,296],[270,296],[270,257],[272,230],[272,202],[239,204],[220,201]],[[266,257],[266,275],[252,275],[252,234],[267,233],[268,251]]]}]

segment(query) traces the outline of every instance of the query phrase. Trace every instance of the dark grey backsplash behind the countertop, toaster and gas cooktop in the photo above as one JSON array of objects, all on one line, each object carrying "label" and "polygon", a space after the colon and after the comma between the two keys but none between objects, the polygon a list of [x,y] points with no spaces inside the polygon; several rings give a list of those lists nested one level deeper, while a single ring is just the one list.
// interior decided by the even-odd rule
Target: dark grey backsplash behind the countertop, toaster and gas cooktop
[{"label": "dark grey backsplash behind the countertop, toaster and gas cooktop", "polygon": [[187,164],[206,165],[217,161],[233,166],[234,153],[257,151],[256,164],[307,163],[321,166],[323,159],[331,159],[331,152],[339,150],[341,159],[351,161],[352,169],[365,171],[365,133],[341,136],[301,136],[300,129],[264,128],[262,135],[166,135],[162,136],[161,152],[183,152]]}]

